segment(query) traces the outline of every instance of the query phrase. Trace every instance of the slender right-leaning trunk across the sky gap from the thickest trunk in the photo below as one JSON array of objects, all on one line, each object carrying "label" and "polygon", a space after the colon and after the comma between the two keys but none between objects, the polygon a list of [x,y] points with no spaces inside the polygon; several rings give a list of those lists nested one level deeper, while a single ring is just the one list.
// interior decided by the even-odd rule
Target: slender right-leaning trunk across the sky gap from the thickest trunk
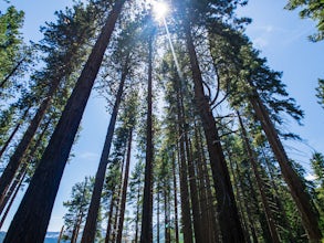
[{"label": "slender right-leaning trunk across the sky gap from the thickest trunk", "polygon": [[108,165],[108,156],[111,152],[111,146],[112,146],[113,135],[115,130],[118,108],[119,108],[119,104],[122,102],[122,95],[124,92],[124,84],[128,75],[128,61],[129,60],[127,56],[127,60],[122,73],[122,78],[121,78],[118,92],[116,95],[116,101],[113,107],[113,113],[111,116],[111,122],[107,129],[106,139],[105,139],[104,148],[102,151],[98,169],[95,176],[94,189],[92,192],[91,203],[88,207],[86,222],[85,222],[85,226],[84,226],[83,235],[81,240],[82,243],[91,243],[91,242],[94,242],[94,239],[95,239],[96,221],[97,221],[97,214],[98,214],[98,209],[101,204],[102,190],[103,190],[103,186],[105,181],[106,168]]}]

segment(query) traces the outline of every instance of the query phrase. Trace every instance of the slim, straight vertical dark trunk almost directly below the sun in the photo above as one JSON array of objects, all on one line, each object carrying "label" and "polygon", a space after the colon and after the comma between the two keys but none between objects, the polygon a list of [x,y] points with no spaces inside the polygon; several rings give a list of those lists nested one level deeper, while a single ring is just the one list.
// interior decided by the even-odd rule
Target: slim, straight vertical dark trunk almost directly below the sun
[{"label": "slim, straight vertical dark trunk almost directly below the sun", "polygon": [[153,83],[153,40],[154,30],[148,40],[148,78],[147,78],[147,130],[146,130],[146,158],[143,196],[140,243],[153,242],[153,112],[151,112],[151,83]]}]

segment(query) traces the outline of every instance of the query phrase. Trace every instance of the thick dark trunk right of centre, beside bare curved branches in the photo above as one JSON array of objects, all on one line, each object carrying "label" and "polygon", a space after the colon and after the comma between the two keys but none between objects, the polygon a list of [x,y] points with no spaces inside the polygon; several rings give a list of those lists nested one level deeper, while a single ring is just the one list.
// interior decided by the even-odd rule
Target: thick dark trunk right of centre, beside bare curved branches
[{"label": "thick dark trunk right of centre, beside bare curved branches", "polygon": [[239,219],[229,171],[220,144],[218,129],[216,127],[215,117],[210,109],[209,102],[206,98],[203,92],[203,81],[191,36],[189,20],[185,22],[184,28],[192,72],[195,99],[197,110],[199,112],[202,122],[202,128],[207,140],[210,167],[215,182],[218,202],[217,211],[222,240],[223,242],[244,242],[244,235]]}]

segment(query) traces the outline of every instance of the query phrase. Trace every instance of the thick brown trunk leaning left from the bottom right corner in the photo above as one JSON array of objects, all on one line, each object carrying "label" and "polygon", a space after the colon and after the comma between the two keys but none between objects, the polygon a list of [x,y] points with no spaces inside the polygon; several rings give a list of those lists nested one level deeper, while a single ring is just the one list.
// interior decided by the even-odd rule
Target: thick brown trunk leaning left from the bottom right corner
[{"label": "thick brown trunk leaning left from the bottom right corner", "polygon": [[301,213],[302,223],[306,230],[309,240],[311,242],[321,242],[322,233],[318,225],[318,212],[306,191],[305,184],[292,168],[274,125],[270,119],[269,112],[260,99],[257,91],[254,91],[253,96],[250,97],[250,102],[280,165],[282,176],[290,188],[292,198]]}]

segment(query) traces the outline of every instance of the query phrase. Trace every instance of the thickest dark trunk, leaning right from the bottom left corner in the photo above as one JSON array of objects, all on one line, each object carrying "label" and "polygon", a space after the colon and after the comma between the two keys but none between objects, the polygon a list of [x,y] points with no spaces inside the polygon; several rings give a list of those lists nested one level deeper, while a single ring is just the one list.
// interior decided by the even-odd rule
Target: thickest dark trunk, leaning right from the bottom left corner
[{"label": "thickest dark trunk, leaning right from the bottom left corner", "polygon": [[50,144],[11,222],[4,243],[43,242],[44,240],[71,147],[125,1],[118,0],[107,18],[107,22],[90,54]]}]

